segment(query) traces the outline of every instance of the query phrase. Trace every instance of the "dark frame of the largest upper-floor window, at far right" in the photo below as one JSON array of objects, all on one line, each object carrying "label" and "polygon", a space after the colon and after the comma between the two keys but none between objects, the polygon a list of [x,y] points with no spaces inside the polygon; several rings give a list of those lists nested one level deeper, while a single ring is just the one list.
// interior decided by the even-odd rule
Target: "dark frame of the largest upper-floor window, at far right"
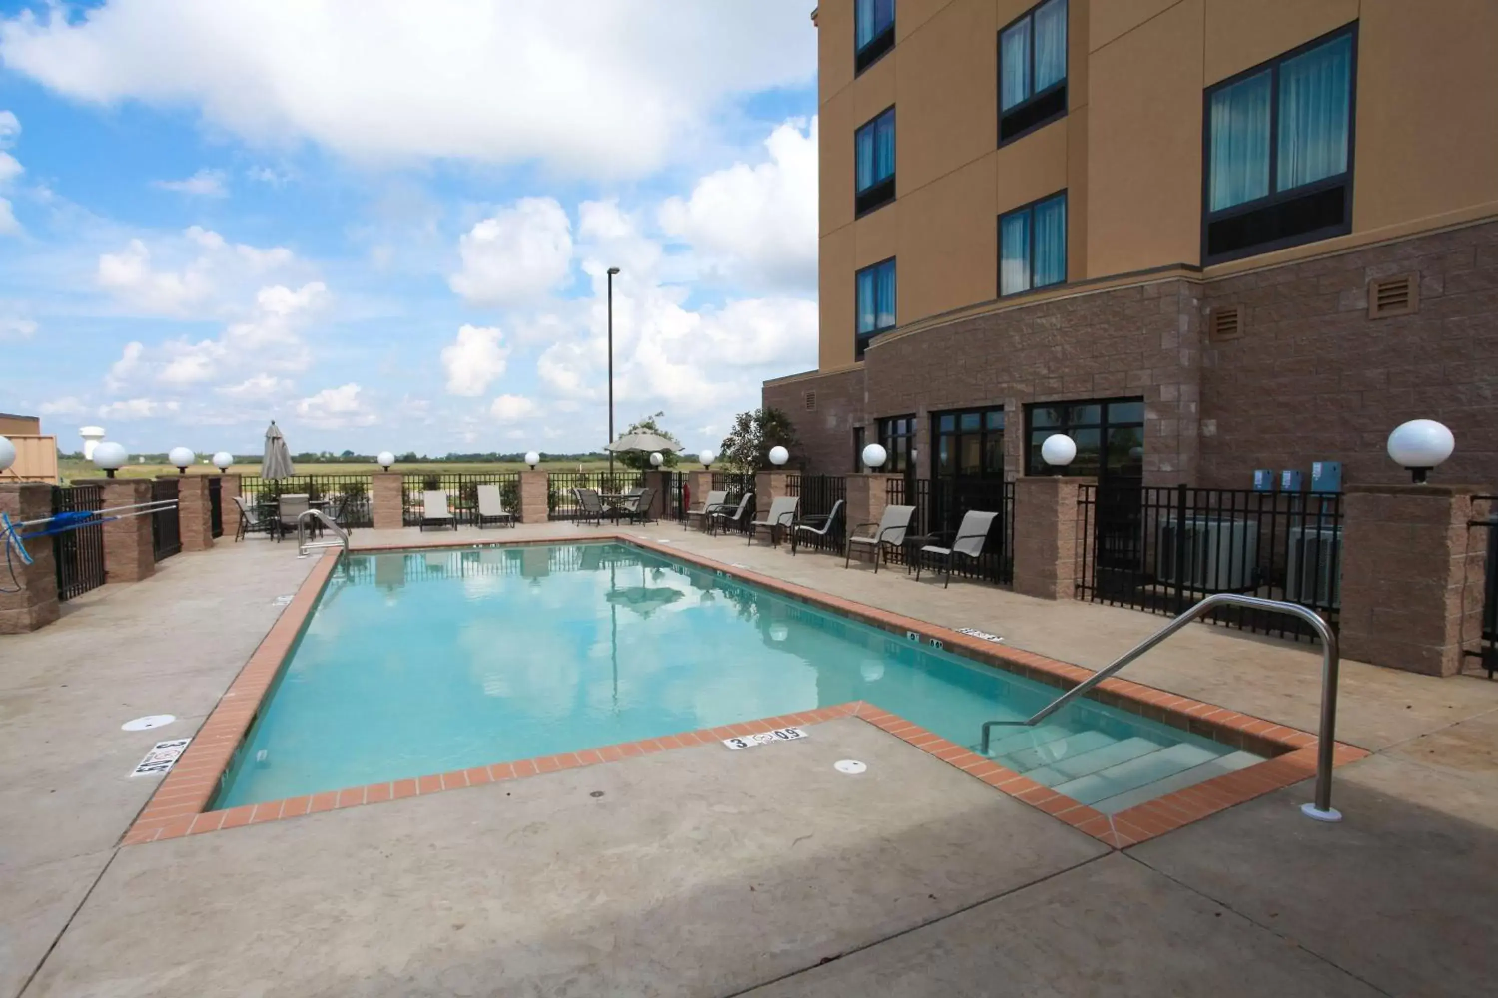
[{"label": "dark frame of the largest upper-floor window, at far right", "polygon": [[[1260,253],[1273,253],[1275,250],[1284,250],[1293,245],[1305,245],[1306,242],[1318,242],[1321,239],[1330,239],[1339,235],[1347,235],[1353,230],[1353,178],[1356,175],[1356,153],[1357,153],[1357,21],[1350,21],[1339,28],[1333,28],[1326,34],[1311,39],[1303,45],[1297,45],[1293,49],[1281,52],[1273,58],[1267,58],[1257,66],[1249,66],[1248,69],[1228,76],[1227,79],[1219,79],[1206,90],[1201,91],[1201,265],[1212,266],[1213,263],[1227,263],[1230,260],[1242,260],[1243,257],[1258,256]],[[1320,48],[1329,42],[1335,42],[1341,36],[1348,36],[1351,39],[1350,51],[1350,67],[1348,67],[1348,94],[1347,94],[1347,169],[1333,177],[1323,177],[1321,180],[1311,181],[1309,184],[1302,184],[1300,187],[1291,187],[1290,190],[1275,190],[1279,181],[1279,67],[1296,58],[1297,55],[1305,55],[1314,48]],[[1254,200],[1245,200],[1237,205],[1230,205],[1219,211],[1212,211],[1212,96],[1219,90],[1227,90],[1228,87],[1239,84],[1249,76],[1257,76],[1258,73],[1269,72],[1269,193],[1263,198],[1255,198]],[[1263,242],[1254,242],[1249,245],[1242,245],[1233,250],[1224,250],[1218,253],[1210,253],[1210,230],[1212,226],[1222,221],[1243,220],[1246,217],[1257,215],[1260,218],[1266,217],[1261,212],[1270,212],[1275,209],[1282,209],[1293,202],[1306,203],[1308,199],[1318,195],[1332,192],[1335,189],[1342,189],[1342,220],[1336,224],[1318,226],[1306,232],[1297,232],[1294,235],[1285,235],[1275,239],[1264,239]]]}]

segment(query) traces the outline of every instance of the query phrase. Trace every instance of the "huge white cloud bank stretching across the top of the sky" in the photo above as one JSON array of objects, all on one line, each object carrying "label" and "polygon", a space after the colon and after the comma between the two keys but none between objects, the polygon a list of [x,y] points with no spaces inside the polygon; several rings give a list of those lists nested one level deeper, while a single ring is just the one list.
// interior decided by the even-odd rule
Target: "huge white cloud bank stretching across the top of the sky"
[{"label": "huge white cloud bank stretching across the top of the sky", "polygon": [[804,85],[804,0],[112,0],[0,21],[0,61],[75,100],[198,108],[252,142],[641,175],[725,97]]}]

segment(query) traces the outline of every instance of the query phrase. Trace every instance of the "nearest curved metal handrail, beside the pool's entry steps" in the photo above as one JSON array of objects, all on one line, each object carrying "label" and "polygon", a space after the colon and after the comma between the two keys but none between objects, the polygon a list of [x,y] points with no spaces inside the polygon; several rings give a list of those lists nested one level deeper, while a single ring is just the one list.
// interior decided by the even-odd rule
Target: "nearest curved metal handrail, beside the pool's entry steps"
[{"label": "nearest curved metal handrail, beside the pool's entry steps", "polygon": [[987,757],[990,732],[993,727],[999,726],[1022,726],[1032,727],[1047,717],[1067,706],[1077,697],[1086,694],[1088,690],[1098,685],[1113,673],[1116,673],[1124,666],[1129,664],[1146,651],[1161,643],[1177,630],[1192,622],[1198,616],[1203,616],[1209,610],[1219,606],[1246,606],[1255,610],[1269,610],[1270,613],[1287,613],[1290,616],[1299,616],[1317,633],[1321,639],[1321,730],[1317,741],[1317,763],[1315,763],[1315,802],[1300,805],[1300,809],[1306,817],[1315,818],[1317,821],[1341,821],[1342,815],[1332,806],[1332,751],[1336,748],[1335,730],[1336,730],[1336,670],[1339,664],[1338,649],[1336,649],[1336,634],[1315,610],[1300,606],[1299,603],[1287,603],[1284,600],[1264,600],[1257,596],[1239,596],[1237,593],[1215,593],[1185,613],[1170,621],[1158,631],[1146,637],[1143,642],[1124,652],[1115,658],[1109,666],[1092,673],[1088,679],[1083,679],[1077,685],[1071,687],[1059,697],[1052,700],[1049,705],[1043,706],[1040,711],[1023,721],[984,721],[983,724],[983,745],[981,754]]}]

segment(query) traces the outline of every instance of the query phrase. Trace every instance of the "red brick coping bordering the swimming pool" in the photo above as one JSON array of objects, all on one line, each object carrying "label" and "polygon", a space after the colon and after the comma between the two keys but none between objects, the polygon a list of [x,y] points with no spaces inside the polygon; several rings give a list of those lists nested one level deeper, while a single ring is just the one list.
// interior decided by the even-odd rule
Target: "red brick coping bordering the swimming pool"
[{"label": "red brick coping bordering the swimming pool", "polygon": [[[655,540],[634,534],[599,531],[598,540],[619,540],[635,545],[647,551],[668,555],[679,561],[686,561],[695,567],[722,573],[734,579],[761,585],[780,596],[809,603],[822,609],[851,616],[861,622],[900,634],[917,633],[923,640],[938,640],[948,651],[959,651],[963,657],[981,663],[1017,672],[1020,675],[1070,688],[1092,675],[1089,669],[1067,664],[1037,655],[1034,652],[1005,648],[954,630],[918,621],[888,610],[881,610],[863,603],[854,603],[836,596],[809,590],[795,584],[783,582],[759,575],[749,569],[727,566],[701,555],[677,549],[673,545],[662,545]],[[494,540],[485,539],[482,546],[511,546],[556,543],[557,539],[524,540]],[[565,540],[575,542],[575,536]],[[478,545],[472,542],[451,545],[421,545],[421,549],[472,549]],[[360,548],[355,554],[376,554],[380,551],[410,551],[410,546]],[[1231,774],[1206,780],[1195,786],[1177,790],[1165,796],[1147,800],[1113,815],[1101,814],[1094,808],[1059,795],[1026,777],[999,766],[990,759],[984,759],[956,742],[950,742],[933,732],[929,732],[905,718],[876,708],[872,703],[855,700],[836,706],[785,714],[739,724],[701,729],[664,738],[647,738],[638,742],[625,742],[604,748],[584,750],[578,753],[562,753],[559,756],[541,756],[518,762],[503,762],[490,766],[473,766],[470,769],[455,769],[446,774],[416,777],[412,780],[395,780],[374,783],[364,787],[349,787],[330,790],[325,793],[288,798],[285,800],[268,800],[262,803],[241,805],[219,811],[205,811],[219,787],[219,781],[244,735],[249,732],[259,711],[265,693],[276,681],[282,663],[297,643],[301,628],[312,615],[333,569],[337,555],[328,552],[318,560],[307,579],[298,588],[297,596],[282,613],[282,616],[267,633],[259,648],[249,663],[235,676],[229,690],[219,700],[217,708],[204,721],[193,736],[192,745],[181,762],[157,787],[156,795],[141,811],[139,817],[126,832],[123,844],[135,845],[154,842],[183,835],[198,835],[202,832],[217,832],[222,829],[240,827],[243,824],[259,824],[262,821],[277,821],[282,818],[333,811],[336,808],[377,803],[380,800],[395,800],[400,798],[422,796],[461,787],[475,787],[487,783],[502,783],[520,780],[577,766],[590,766],[635,756],[646,756],[674,748],[692,745],[718,744],[725,738],[753,735],[776,727],[816,724],[842,717],[855,717],[873,724],[896,738],[935,756],[975,780],[1007,793],[1011,798],[1040,808],[1067,824],[1086,832],[1088,835],[1115,847],[1125,848],[1164,835],[1173,829],[1197,821],[1209,814],[1251,800],[1272,790],[1287,787],[1293,783],[1315,775],[1315,745],[1317,738],[1297,729],[1264,721],[1257,717],[1228,711],[1227,708],[1201,703],[1189,697],[1176,696],[1153,687],[1146,687],[1126,679],[1106,679],[1092,691],[1092,697],[1110,703],[1116,708],[1164,721],[1174,727],[1212,738],[1218,742],[1243,748],[1260,756],[1267,756],[1266,762],[1239,769]],[[1362,759],[1368,753],[1362,748],[1338,744],[1335,750],[1336,765]]]}]

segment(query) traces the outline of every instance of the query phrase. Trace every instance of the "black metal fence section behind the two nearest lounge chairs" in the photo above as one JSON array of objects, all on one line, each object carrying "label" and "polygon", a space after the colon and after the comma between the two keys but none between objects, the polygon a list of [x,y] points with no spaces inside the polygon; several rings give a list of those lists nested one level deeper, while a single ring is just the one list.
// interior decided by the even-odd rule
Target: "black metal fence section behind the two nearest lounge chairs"
[{"label": "black metal fence section behind the two nearest lounge chairs", "polygon": [[908,552],[891,561],[909,561],[926,543],[945,546],[956,539],[969,512],[998,513],[983,543],[983,557],[977,563],[959,558],[953,563],[953,575],[998,585],[1014,582],[1014,482],[953,477],[915,479],[914,489],[909,485],[908,479],[890,479],[885,488],[884,500],[890,506],[915,507]]}]

